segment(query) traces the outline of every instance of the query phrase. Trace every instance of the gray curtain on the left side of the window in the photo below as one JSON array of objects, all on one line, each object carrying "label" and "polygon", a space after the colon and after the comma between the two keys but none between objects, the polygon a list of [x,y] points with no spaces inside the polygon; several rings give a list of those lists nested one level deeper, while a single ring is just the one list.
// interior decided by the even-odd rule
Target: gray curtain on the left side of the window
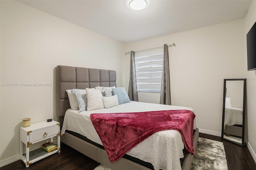
[{"label": "gray curtain on the left side of the window", "polygon": [[130,60],[130,81],[128,96],[131,101],[138,101],[138,90],[137,90],[137,79],[136,79],[136,68],[135,68],[135,52],[131,51]]}]

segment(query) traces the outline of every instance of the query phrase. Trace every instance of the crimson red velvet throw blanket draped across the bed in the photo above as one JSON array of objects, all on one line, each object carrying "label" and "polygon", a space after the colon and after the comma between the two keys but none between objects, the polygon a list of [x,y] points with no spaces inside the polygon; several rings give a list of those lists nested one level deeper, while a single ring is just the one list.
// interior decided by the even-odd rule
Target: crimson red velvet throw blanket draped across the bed
[{"label": "crimson red velvet throw blanket draped across the bed", "polygon": [[193,126],[195,117],[196,115],[188,110],[90,115],[110,162],[120,159],[155,132],[170,129],[180,132],[186,150],[194,154]]}]

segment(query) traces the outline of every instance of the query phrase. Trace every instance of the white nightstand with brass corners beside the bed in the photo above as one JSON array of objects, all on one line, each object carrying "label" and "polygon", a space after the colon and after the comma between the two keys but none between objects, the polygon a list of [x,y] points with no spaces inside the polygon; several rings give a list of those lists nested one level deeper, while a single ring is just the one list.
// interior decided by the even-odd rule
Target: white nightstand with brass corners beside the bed
[{"label": "white nightstand with brass corners beside the bed", "polygon": [[[57,136],[58,147],[52,152],[46,152],[42,148],[30,150],[30,145],[42,140],[50,139]],[[23,143],[26,145],[26,152],[23,153]],[[29,127],[20,127],[20,159],[28,168],[30,164],[41,160],[54,153],[60,153],[60,123],[56,121],[43,121],[33,123]]]}]

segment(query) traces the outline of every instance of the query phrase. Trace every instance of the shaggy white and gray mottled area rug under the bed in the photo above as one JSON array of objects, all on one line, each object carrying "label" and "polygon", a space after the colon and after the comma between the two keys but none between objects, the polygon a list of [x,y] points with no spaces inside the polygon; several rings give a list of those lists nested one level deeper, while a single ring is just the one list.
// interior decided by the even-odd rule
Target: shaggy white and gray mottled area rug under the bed
[{"label": "shaggy white and gray mottled area rug under the bed", "polygon": [[[191,170],[228,170],[226,153],[222,142],[199,138],[192,160]],[[99,165],[94,170],[111,170]]]}]

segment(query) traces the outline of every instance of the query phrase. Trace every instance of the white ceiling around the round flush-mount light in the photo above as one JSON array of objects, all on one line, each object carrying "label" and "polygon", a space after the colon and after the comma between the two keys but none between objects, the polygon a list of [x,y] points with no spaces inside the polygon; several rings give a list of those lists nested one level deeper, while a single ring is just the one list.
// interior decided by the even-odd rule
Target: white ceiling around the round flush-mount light
[{"label": "white ceiling around the round flush-mount light", "polygon": [[252,0],[19,0],[123,43],[136,42],[244,18]]}]

